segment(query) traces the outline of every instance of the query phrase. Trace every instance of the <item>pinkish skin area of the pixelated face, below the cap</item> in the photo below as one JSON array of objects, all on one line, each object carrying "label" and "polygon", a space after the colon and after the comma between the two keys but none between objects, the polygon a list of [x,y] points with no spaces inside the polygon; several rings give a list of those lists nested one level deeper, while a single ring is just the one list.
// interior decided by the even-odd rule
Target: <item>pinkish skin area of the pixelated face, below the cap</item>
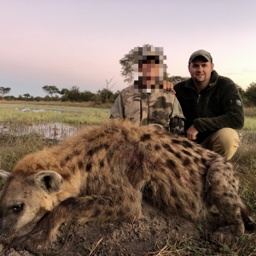
[{"label": "pinkish skin area of the pixelated face, below the cap", "polygon": [[139,67],[139,72],[143,73],[143,84],[151,88],[150,85],[155,84],[155,78],[160,76],[160,67],[159,64],[154,63],[154,60],[151,60]]}]

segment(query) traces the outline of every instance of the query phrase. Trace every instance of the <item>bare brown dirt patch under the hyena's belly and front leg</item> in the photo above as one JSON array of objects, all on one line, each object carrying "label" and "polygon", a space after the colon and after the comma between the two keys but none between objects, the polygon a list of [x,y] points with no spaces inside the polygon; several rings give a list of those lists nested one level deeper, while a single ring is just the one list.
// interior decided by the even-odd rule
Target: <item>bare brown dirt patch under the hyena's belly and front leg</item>
[{"label": "bare brown dirt patch under the hyena's belly and front leg", "polygon": [[201,237],[195,224],[184,218],[168,217],[143,202],[143,216],[135,223],[108,221],[62,224],[47,251],[29,253],[0,247],[1,255],[156,255],[167,241]]}]

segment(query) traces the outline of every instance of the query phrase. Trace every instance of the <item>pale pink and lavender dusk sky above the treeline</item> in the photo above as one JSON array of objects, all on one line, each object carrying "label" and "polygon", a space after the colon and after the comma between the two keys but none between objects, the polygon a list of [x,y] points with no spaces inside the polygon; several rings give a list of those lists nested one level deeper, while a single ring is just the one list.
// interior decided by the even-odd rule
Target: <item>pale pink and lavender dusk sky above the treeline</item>
[{"label": "pale pink and lavender dusk sky above the treeline", "polygon": [[189,76],[189,56],[246,89],[256,82],[255,0],[0,0],[0,87],[45,96],[44,85],[96,92],[128,86],[119,60],[163,47],[167,72]]}]

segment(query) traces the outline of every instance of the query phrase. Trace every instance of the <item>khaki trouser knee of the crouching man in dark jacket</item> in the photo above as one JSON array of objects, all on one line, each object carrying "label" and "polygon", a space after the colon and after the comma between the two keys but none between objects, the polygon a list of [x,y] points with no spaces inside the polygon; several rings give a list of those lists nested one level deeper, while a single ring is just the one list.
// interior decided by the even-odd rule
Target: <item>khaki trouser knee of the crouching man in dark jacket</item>
[{"label": "khaki trouser knee of the crouching man in dark jacket", "polygon": [[231,128],[223,128],[213,132],[201,143],[201,146],[230,160],[236,153],[239,142],[240,140],[235,130]]}]

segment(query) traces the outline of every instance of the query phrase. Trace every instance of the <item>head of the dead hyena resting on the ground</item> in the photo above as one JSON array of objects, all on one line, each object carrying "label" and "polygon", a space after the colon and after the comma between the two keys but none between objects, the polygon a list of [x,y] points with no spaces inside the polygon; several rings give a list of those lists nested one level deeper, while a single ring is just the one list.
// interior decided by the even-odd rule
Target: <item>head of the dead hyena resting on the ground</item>
[{"label": "head of the dead hyena resting on the ground", "polygon": [[57,204],[56,194],[63,187],[60,174],[0,171],[5,180],[0,195],[0,236],[20,236],[32,230],[46,212]]}]

